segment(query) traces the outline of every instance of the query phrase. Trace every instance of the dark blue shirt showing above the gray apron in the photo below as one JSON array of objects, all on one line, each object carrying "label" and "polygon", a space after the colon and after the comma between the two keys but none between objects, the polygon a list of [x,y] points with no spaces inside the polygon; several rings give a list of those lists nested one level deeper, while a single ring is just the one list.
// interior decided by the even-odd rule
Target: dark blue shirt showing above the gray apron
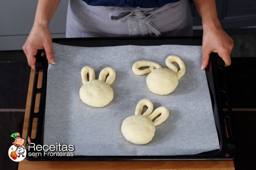
[{"label": "dark blue shirt showing above the gray apron", "polygon": [[83,0],[88,5],[92,6],[129,6],[140,8],[157,8],[171,2],[178,2],[179,0]]}]

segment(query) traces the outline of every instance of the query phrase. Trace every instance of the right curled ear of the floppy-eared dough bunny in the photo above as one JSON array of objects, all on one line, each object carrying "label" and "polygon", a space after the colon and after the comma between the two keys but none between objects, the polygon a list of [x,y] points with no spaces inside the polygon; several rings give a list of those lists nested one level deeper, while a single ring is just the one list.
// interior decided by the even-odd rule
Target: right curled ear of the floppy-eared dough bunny
[{"label": "right curled ear of the floppy-eared dough bunny", "polygon": [[[179,71],[178,68],[173,64],[173,62],[178,64],[178,66],[180,67]],[[178,56],[167,57],[165,60],[165,64],[169,69],[177,73],[178,79],[180,79],[186,72],[186,66],[183,60],[181,60],[181,58],[179,58]]]}]

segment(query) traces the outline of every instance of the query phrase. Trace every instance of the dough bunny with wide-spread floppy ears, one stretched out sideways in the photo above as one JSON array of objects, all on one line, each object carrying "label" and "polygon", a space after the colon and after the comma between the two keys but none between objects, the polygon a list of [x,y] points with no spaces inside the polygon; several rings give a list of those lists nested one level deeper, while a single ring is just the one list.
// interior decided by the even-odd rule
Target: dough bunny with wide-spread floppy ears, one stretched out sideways
[{"label": "dough bunny with wide-spread floppy ears, one stretched out sideways", "polygon": [[[177,63],[178,68],[173,64]],[[149,90],[155,94],[166,95],[173,92],[178,86],[178,80],[185,74],[185,64],[178,56],[169,56],[165,60],[167,68],[162,68],[161,65],[153,61],[137,61],[133,64],[133,72],[136,75],[143,75],[150,73],[146,78],[146,84]],[[141,70],[140,67],[149,67]]]}]

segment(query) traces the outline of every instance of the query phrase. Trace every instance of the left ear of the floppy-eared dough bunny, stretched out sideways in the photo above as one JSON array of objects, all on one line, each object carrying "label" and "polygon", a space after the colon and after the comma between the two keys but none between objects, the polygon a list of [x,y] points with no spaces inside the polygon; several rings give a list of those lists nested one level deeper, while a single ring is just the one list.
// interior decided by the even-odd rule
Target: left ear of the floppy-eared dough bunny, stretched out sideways
[{"label": "left ear of the floppy-eared dough bunny, stretched out sideways", "polygon": [[[140,67],[149,67],[147,69],[139,69]],[[152,72],[153,69],[162,68],[162,66],[153,61],[141,60],[133,64],[133,73],[136,75],[143,75]]]}]

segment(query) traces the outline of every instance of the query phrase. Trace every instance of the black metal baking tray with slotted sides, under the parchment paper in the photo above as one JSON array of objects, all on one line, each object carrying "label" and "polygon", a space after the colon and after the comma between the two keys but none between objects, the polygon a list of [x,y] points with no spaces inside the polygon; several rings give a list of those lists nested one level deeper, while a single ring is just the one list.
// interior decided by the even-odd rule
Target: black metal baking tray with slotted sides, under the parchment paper
[{"label": "black metal baking tray with slotted sides, under the parchment paper", "polygon": [[[80,47],[105,47],[119,45],[202,45],[201,37],[125,37],[125,38],[56,38],[53,42],[61,45]],[[36,71],[32,90],[30,117],[27,135],[31,136],[32,122],[37,118],[36,137],[31,139],[35,145],[43,145],[44,115],[46,103],[48,62],[46,57],[41,57],[41,50],[37,53]],[[43,71],[42,86],[37,88],[39,71]],[[215,53],[210,54],[209,64],[206,68],[206,77],[210,91],[213,114],[220,149],[203,152],[195,155],[178,156],[73,156],[73,157],[47,157],[26,156],[29,161],[131,161],[131,160],[233,160],[236,157],[235,136],[233,132],[231,105],[227,92],[225,69],[223,60]],[[36,94],[40,93],[39,112],[34,113]],[[224,112],[225,109],[225,112]],[[53,113],[54,114],[54,113]],[[31,152],[28,151],[27,152]],[[42,154],[43,155],[43,154]]]}]

